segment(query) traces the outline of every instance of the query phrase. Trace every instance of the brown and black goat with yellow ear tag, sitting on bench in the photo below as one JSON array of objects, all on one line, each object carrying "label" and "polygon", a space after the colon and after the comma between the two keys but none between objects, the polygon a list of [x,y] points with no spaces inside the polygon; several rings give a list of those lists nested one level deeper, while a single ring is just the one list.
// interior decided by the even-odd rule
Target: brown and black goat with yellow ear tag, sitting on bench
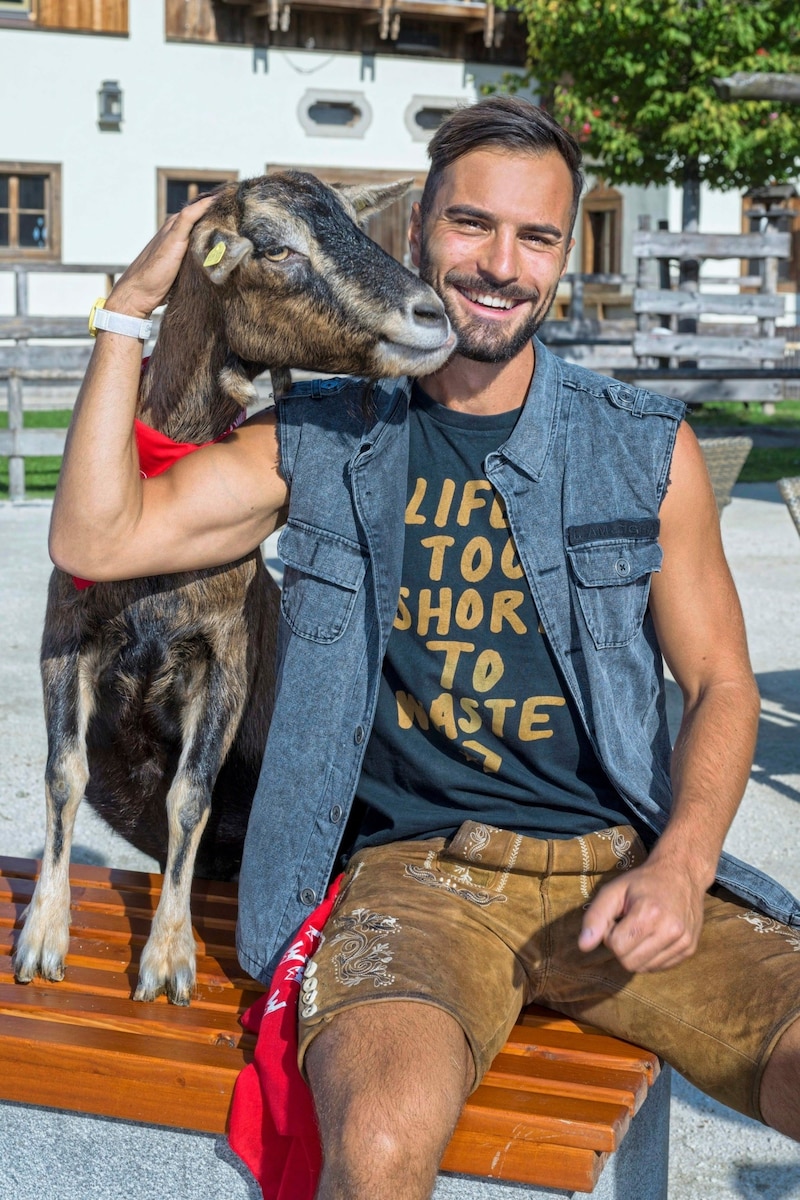
[{"label": "brown and black goat with yellow ear tag, sitting on bench", "polygon": [[[253,379],[290,368],[425,373],[455,343],[427,284],[356,226],[407,184],[285,172],[223,188],[198,222],[137,403],[175,442],[224,434]],[[190,1002],[196,869],[235,875],[266,739],[278,589],[257,547],[225,566],[97,583],[53,571],[42,638],[47,832],[14,971],[64,977],[68,862],[85,794],[164,872],[136,1000]]]}]

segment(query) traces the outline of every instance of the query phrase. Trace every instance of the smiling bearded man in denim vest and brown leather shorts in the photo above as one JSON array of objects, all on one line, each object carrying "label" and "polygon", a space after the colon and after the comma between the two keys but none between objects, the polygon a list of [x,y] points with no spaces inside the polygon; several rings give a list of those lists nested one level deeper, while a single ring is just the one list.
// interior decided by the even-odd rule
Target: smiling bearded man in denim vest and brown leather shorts
[{"label": "smiling bearded man in denim vest and brown leather shorts", "polygon": [[[301,385],[143,484],[139,355],[102,334],[53,517],[59,565],[113,578],[228,562],[289,504],[239,940],[269,978],[347,866],[300,1014],[321,1200],[428,1196],[533,1000],[800,1138],[800,911],[720,857],[758,697],[702,455],[678,402],[531,341],[572,245],[573,140],[494,97],[431,156],[410,242],[458,335],[441,371],[366,404],[363,382]],[[203,211],[108,307],[162,301]]]}]

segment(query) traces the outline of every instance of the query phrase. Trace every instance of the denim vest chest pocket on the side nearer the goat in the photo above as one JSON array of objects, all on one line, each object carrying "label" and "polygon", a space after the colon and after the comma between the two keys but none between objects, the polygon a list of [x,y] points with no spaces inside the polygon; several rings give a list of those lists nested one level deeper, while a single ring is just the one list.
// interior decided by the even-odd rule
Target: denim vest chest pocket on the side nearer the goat
[{"label": "denim vest chest pocket on the side nearer the goat", "polygon": [[291,518],[277,550],[285,564],[281,610],[290,629],[312,642],[335,642],[347,629],[363,583],[366,550]]}]

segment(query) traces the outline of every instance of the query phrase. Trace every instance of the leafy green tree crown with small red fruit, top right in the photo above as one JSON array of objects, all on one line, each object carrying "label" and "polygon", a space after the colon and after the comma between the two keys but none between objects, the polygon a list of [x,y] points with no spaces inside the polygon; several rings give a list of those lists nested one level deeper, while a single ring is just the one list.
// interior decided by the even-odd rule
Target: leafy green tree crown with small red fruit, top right
[{"label": "leafy green tree crown with small red fruit, top right", "polygon": [[[506,0],[509,2],[509,0]],[[798,110],[726,103],[714,77],[800,68],[796,0],[513,0],[528,24],[524,74],[612,184],[746,188],[798,173]]]}]

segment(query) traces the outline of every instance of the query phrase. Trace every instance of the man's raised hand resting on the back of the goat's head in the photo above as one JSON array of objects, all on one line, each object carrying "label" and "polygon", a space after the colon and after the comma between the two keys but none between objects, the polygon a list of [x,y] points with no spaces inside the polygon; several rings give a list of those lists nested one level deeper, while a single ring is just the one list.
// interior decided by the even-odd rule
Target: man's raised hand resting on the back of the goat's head
[{"label": "man's raised hand resting on the back of the goat's head", "polygon": [[204,196],[167,217],[152,241],[120,275],[106,307],[132,317],[149,317],[163,304],[188,248],[192,229],[213,200],[213,196]]}]

